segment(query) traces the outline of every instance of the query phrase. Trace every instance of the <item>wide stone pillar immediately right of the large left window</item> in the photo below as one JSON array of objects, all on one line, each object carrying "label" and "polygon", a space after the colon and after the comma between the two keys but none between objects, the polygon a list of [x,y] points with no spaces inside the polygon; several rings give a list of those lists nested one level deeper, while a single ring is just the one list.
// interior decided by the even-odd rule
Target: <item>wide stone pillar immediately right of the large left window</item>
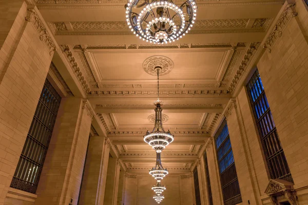
[{"label": "wide stone pillar immediately right of the large left window", "polygon": [[93,112],[87,101],[62,98],[35,204],[77,204]]}]

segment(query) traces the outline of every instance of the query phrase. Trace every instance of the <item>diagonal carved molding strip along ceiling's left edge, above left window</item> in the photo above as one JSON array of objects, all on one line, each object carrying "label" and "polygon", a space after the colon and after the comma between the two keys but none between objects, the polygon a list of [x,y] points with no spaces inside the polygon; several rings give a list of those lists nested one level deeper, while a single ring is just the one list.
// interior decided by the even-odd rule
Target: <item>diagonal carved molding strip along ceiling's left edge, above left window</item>
[{"label": "diagonal carved molding strip along ceiling's left edge, above left window", "polygon": [[69,46],[61,45],[60,48],[61,48],[62,52],[65,54],[65,57],[66,57],[68,63],[70,64],[71,69],[75,73],[75,76],[79,79],[80,84],[82,85],[84,91],[86,93],[90,93],[90,88],[87,84],[87,81],[85,80],[85,78],[84,78],[84,76],[83,76],[83,74],[82,74],[82,72],[81,72],[81,70],[80,70],[80,68],[77,64],[77,62],[76,62],[76,60],[73,56],[73,53],[70,51]]}]

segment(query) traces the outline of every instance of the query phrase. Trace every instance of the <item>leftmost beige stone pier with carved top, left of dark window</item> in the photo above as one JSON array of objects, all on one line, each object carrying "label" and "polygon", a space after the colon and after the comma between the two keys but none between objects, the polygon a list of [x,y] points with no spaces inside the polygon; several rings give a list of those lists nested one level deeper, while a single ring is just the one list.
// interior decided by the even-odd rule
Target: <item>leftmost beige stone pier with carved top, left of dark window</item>
[{"label": "leftmost beige stone pier with carved top, left of dark window", "polygon": [[24,1],[3,0],[0,10],[0,204],[3,204],[55,46],[36,8],[27,10]]}]

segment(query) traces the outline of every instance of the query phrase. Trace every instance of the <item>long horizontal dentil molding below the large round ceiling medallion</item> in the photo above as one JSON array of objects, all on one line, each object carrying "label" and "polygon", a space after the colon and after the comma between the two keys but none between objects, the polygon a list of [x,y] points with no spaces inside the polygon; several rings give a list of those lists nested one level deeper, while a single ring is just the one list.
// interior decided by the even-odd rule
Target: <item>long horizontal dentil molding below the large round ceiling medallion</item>
[{"label": "long horizontal dentil molding below the large round ceiling medallion", "polygon": [[[88,96],[156,96],[157,91],[91,91]],[[228,90],[163,90],[161,96],[207,96],[207,95],[230,95]]]}]

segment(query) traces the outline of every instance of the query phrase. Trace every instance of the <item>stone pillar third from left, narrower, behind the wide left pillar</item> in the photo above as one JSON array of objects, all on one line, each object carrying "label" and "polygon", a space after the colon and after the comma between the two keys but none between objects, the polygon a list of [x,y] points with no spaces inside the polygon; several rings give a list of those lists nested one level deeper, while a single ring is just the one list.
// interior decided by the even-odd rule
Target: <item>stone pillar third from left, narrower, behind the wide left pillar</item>
[{"label": "stone pillar third from left, narrower, behind the wide left pillar", "polygon": [[79,204],[102,204],[104,201],[110,141],[91,136]]}]

